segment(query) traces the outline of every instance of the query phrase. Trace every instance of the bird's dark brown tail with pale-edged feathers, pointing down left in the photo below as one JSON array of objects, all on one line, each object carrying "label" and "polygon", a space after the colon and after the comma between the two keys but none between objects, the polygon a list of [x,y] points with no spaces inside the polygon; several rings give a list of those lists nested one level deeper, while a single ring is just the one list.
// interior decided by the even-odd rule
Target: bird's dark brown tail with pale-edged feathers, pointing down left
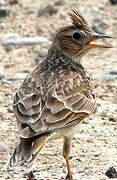
[{"label": "bird's dark brown tail with pale-edged feathers, pointing down left", "polygon": [[48,134],[21,138],[7,164],[7,170],[15,166],[23,166],[26,172],[32,171],[38,154],[47,140]]}]

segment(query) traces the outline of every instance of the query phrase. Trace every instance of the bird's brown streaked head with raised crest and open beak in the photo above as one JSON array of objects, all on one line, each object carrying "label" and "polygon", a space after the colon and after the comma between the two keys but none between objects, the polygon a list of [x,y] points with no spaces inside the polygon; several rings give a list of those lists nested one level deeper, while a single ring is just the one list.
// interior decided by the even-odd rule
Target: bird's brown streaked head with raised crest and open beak
[{"label": "bird's brown streaked head with raised crest and open beak", "polygon": [[94,44],[97,39],[111,38],[96,34],[81,14],[73,10],[69,13],[72,25],[60,28],[54,39],[54,47],[69,57],[82,57],[94,48],[108,48],[110,46]]}]

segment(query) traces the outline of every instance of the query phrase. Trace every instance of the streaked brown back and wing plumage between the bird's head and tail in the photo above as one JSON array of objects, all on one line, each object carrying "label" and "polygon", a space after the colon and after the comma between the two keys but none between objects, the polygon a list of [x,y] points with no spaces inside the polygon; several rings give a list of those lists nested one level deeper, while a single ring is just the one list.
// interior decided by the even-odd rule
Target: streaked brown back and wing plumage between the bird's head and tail
[{"label": "streaked brown back and wing plumage between the bird's head and tail", "polygon": [[[92,91],[93,85],[83,66],[51,50],[39,67],[28,75],[14,98],[14,110],[21,124],[20,134],[24,124],[30,127],[30,133],[41,134],[69,126],[67,120],[64,122],[69,113],[76,114],[76,117],[81,113],[85,116],[92,114],[96,109]],[[73,105],[68,101],[73,101]],[[82,108],[76,104],[79,101],[81,105],[84,103]],[[88,105],[85,106],[84,101]],[[60,113],[64,114],[63,117]]]}]

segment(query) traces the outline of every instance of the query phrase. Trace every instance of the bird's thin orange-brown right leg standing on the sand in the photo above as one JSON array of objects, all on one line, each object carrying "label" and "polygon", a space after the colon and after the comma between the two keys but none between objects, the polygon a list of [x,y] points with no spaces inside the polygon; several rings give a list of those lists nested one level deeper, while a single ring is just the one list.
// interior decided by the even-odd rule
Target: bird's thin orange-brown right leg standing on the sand
[{"label": "bird's thin orange-brown right leg standing on the sand", "polygon": [[69,164],[69,153],[70,153],[70,145],[71,145],[71,140],[72,138],[65,138],[64,139],[64,145],[63,145],[63,157],[66,160],[66,165],[67,165],[67,176],[66,176],[66,180],[73,180],[72,177],[72,172],[70,169],[70,164]]}]

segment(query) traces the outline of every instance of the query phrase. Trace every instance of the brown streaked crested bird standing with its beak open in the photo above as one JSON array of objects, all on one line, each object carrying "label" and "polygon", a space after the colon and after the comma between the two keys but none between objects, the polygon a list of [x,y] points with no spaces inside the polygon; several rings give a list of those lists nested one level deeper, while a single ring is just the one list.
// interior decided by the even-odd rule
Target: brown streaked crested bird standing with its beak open
[{"label": "brown streaked crested bird standing with its beak open", "polygon": [[28,74],[17,90],[13,109],[19,139],[7,170],[22,166],[29,180],[40,151],[49,140],[63,139],[66,180],[73,180],[70,146],[79,124],[97,110],[94,85],[81,59],[97,48],[95,40],[111,38],[97,34],[77,10],[69,12],[71,24],[56,32],[43,61]]}]

